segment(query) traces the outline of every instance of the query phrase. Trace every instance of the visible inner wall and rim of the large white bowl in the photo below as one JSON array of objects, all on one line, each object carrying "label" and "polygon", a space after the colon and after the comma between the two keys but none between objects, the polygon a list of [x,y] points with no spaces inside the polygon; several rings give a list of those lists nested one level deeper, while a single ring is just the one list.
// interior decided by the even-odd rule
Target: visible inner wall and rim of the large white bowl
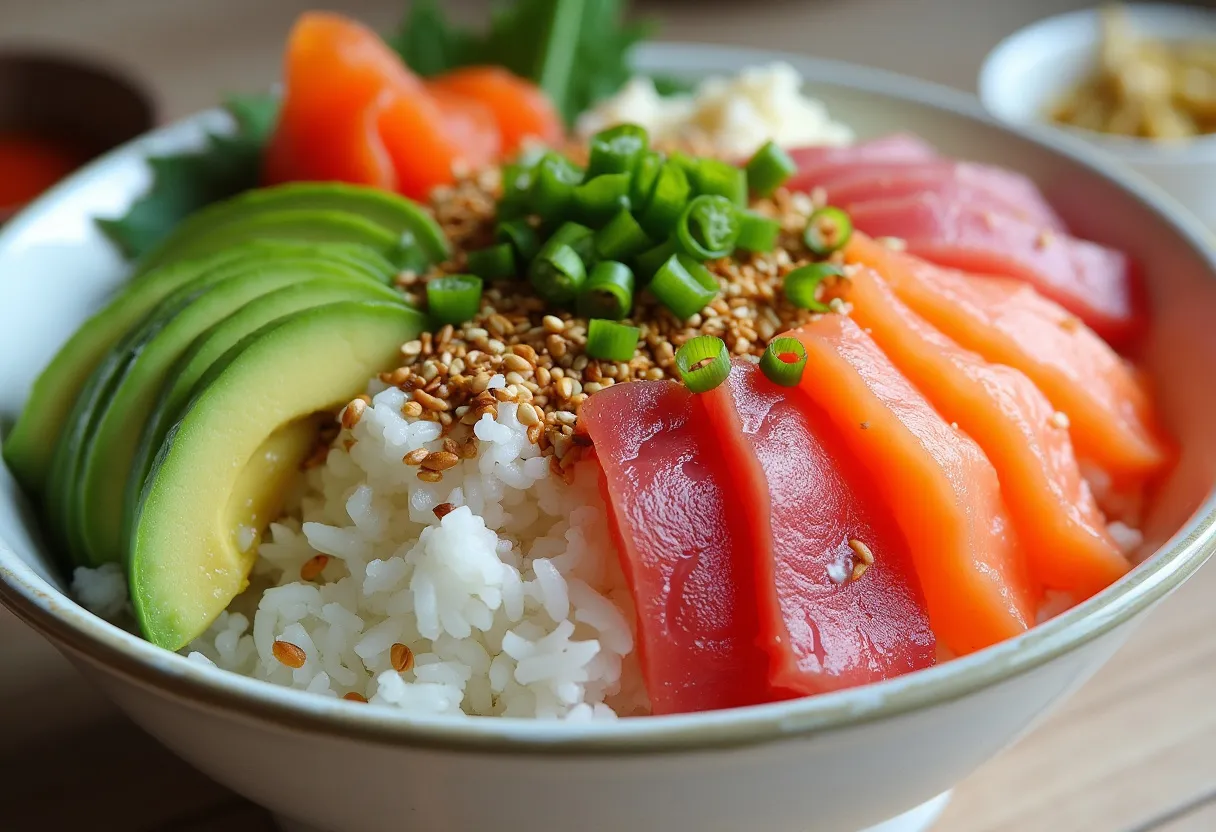
[{"label": "visible inner wall and rim of the large white bowl", "polygon": [[[914,131],[945,153],[1025,172],[1081,235],[1125,248],[1144,264],[1158,322],[1145,361],[1158,381],[1170,427],[1187,448],[1148,529],[1166,551],[1116,586],[1019,639],[890,682],[737,712],[569,730],[510,724],[517,720],[447,723],[445,742],[496,737],[520,743],[610,744],[620,740],[660,747],[721,742],[727,735],[750,742],[924,707],[1096,637],[1181,583],[1209,551],[1210,512],[1184,524],[1204,504],[1216,472],[1216,423],[1209,416],[1216,406],[1216,389],[1195,383],[1216,367],[1216,327],[1210,325],[1216,319],[1216,264],[1201,229],[1122,174],[1083,162],[1083,146],[1048,133],[1036,141],[989,119],[961,94],[845,64],[753,50],[653,45],[640,51],[638,62],[646,69],[698,77],[777,57],[793,63],[831,112],[860,135]],[[0,232],[0,435],[11,427],[38,371],[123,279],[124,264],[92,218],[122,212],[141,192],[148,181],[148,153],[193,146],[204,129],[224,123],[221,116],[209,113],[152,134],[63,182]],[[38,629],[97,663],[184,696],[255,708],[293,724],[356,726],[382,738],[411,741],[423,730],[417,721],[371,713],[378,709],[342,708],[322,697],[202,668],[154,648],[72,603],[54,563],[30,506],[0,466],[0,598]]]}]

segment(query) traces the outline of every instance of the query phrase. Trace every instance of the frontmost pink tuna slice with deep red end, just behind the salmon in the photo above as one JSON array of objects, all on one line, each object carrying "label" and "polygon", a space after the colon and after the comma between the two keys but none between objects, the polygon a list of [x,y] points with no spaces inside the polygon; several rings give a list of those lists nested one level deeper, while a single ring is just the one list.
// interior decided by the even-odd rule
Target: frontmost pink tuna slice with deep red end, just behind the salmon
[{"label": "frontmost pink tuna slice with deep red end, just behind the salmon", "polygon": [[1144,326],[1121,252],[931,195],[867,202],[850,214],[855,227],[899,237],[933,263],[1025,281],[1111,343],[1126,343]]}]

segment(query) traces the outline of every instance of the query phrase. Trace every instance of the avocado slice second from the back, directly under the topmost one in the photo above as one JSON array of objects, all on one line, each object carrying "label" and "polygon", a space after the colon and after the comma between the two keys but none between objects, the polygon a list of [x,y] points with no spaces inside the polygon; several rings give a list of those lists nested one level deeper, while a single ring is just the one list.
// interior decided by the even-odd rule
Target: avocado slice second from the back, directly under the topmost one
[{"label": "avocado slice second from the back, directly under the topmost one", "polygon": [[197,234],[178,237],[175,232],[168,248],[157,249],[140,264],[142,274],[180,260],[206,257],[254,240],[308,240],[310,242],[340,242],[366,246],[388,258],[395,266],[410,263],[420,251],[412,235],[389,231],[383,225],[344,210],[310,208],[268,210],[250,214],[240,223],[201,229]]}]

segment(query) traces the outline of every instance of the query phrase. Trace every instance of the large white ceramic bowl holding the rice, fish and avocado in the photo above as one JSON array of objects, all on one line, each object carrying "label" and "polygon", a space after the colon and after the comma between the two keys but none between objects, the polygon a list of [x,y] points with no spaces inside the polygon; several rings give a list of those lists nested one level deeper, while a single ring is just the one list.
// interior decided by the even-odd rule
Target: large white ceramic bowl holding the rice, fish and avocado
[{"label": "large white ceramic bowl holding the rice, fish and avocado", "polygon": [[[655,45],[643,68],[733,72],[786,57],[862,135],[905,129],[946,153],[1035,178],[1083,235],[1148,268],[1156,335],[1145,364],[1186,443],[1147,563],[1097,597],[974,656],[880,685],[730,712],[567,725],[415,719],[187,662],[86,613],[63,592],[33,513],[0,468],[0,600],[135,721],[219,782],[331,832],[919,830],[946,792],[1087,679],[1216,540],[1216,260],[1198,224],[1083,146],[1002,127],[964,95],[771,52]],[[0,235],[0,425],[35,372],[122,280],[89,217],[146,181],[153,148],[203,117],[102,159]],[[51,776],[49,772],[47,776]],[[921,809],[916,809],[921,806]],[[912,811],[912,814],[903,814]]]}]

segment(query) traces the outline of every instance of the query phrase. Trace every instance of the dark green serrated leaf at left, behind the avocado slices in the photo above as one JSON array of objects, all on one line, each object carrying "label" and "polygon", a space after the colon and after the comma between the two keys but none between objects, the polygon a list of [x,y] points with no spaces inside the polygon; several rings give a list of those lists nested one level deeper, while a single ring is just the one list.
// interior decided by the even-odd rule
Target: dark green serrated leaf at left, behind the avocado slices
[{"label": "dark green serrated leaf at left, behind the avocado slices", "polygon": [[236,120],[236,133],[210,135],[197,151],[150,157],[148,191],[123,217],[96,220],[126,258],[154,248],[199,208],[257,186],[261,150],[278,117],[278,100],[237,96],[225,108]]}]

